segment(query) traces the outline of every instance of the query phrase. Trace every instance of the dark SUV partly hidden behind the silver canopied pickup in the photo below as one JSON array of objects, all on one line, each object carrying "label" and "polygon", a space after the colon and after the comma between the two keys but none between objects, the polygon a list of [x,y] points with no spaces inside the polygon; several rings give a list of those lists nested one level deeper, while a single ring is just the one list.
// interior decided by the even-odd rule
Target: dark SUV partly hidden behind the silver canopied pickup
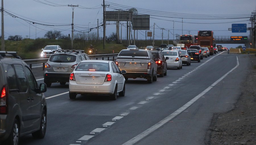
[{"label": "dark SUV partly hidden behind the silver canopied pickup", "polygon": [[158,61],[156,61],[157,64],[157,74],[159,74],[161,77],[166,76],[167,75],[167,63],[166,60],[169,59],[169,57],[166,57],[164,59],[164,54],[162,51],[156,50],[156,49],[151,49],[150,50],[151,53],[153,54],[153,57],[155,60],[157,60],[157,58],[159,59]]}]

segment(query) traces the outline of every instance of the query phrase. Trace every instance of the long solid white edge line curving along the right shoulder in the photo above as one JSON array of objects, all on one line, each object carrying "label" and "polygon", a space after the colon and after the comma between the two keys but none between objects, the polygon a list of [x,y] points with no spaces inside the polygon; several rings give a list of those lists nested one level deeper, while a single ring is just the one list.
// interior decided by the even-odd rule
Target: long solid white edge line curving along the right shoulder
[{"label": "long solid white edge line curving along the right shoulder", "polygon": [[[216,55],[217,56],[217,55]],[[213,57],[212,57],[213,58]],[[229,72],[227,72],[224,77],[222,76],[221,78],[219,78],[218,80],[216,80],[216,82],[214,82],[212,85],[210,85],[208,88],[206,88],[203,92],[201,92],[199,95],[195,96],[195,98],[193,98],[192,100],[190,100],[189,102],[187,102],[185,105],[183,105],[182,107],[180,107],[178,110],[176,110],[174,113],[170,114],[169,116],[167,116],[166,118],[164,118],[163,120],[159,121],[158,123],[156,123],[155,125],[153,125],[152,127],[150,127],[149,129],[145,130],[144,132],[142,132],[141,134],[135,136],[134,138],[128,140],[127,142],[125,142],[122,145],[133,145],[136,142],[138,142],[139,140],[141,140],[142,138],[144,138],[145,136],[147,136],[148,134],[150,134],[151,132],[153,132],[154,130],[158,129],[159,127],[161,127],[162,125],[164,125],[165,123],[167,123],[168,121],[170,121],[171,119],[173,119],[174,117],[176,117],[178,114],[180,114],[181,112],[183,112],[185,109],[187,109],[190,105],[192,105],[193,103],[195,103],[195,101],[197,101],[200,97],[202,97],[204,94],[206,94],[211,88],[213,88],[218,82],[220,82],[223,78],[225,78],[230,72],[232,72],[234,69],[236,69],[239,66],[239,61],[238,61],[238,57],[236,57],[237,59],[237,65],[231,69]]]}]

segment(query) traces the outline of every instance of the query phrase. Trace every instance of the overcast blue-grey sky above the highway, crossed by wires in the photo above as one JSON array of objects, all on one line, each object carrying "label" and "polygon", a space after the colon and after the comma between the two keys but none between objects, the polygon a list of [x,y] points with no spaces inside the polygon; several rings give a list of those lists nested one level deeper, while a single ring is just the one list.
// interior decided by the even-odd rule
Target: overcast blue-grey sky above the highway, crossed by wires
[{"label": "overcast blue-grey sky above the highway, crossed by wires", "polygon": [[[49,30],[58,30],[64,35],[71,34],[72,9],[67,5],[79,5],[74,9],[75,31],[86,32],[88,28],[97,26],[97,19],[99,23],[103,22],[102,4],[103,0],[4,0],[5,39],[15,35],[31,39],[42,38]],[[249,36],[249,31],[232,33],[228,28],[232,28],[232,24],[242,23],[251,27],[249,18],[246,17],[250,17],[256,10],[255,0],[108,0],[105,4],[110,5],[106,11],[136,8],[138,14],[150,15],[152,32],[156,23],[155,39],[162,39],[160,28],[165,29],[164,39],[168,39],[168,30],[170,39],[176,39],[175,35],[182,33],[196,35],[198,30],[212,30],[217,37]],[[115,22],[107,24],[106,36],[109,36],[115,32]],[[122,30],[122,37],[125,38],[124,26]],[[95,29],[92,32],[97,31]],[[103,36],[103,28],[100,28],[99,35]],[[138,39],[145,39],[145,30],[138,30]]]}]

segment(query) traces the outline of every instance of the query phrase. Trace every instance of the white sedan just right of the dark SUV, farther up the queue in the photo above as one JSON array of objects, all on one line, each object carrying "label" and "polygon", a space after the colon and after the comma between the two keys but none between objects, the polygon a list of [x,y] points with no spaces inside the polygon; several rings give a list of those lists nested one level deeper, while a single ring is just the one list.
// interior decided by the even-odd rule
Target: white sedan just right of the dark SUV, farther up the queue
[{"label": "white sedan just right of the dark SUV, farther up the queue", "polygon": [[182,69],[182,59],[176,50],[164,50],[163,51],[164,58],[169,57],[169,59],[166,60],[167,68],[170,67],[177,67],[177,69]]}]

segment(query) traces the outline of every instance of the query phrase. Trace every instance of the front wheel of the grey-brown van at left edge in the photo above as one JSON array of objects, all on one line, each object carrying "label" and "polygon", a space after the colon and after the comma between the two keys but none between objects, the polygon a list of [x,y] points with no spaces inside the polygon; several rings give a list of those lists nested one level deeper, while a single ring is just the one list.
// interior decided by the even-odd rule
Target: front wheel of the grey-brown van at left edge
[{"label": "front wheel of the grey-brown van at left edge", "polygon": [[33,138],[44,138],[45,132],[46,132],[46,111],[43,110],[42,118],[40,122],[40,130],[33,132],[32,136]]}]

